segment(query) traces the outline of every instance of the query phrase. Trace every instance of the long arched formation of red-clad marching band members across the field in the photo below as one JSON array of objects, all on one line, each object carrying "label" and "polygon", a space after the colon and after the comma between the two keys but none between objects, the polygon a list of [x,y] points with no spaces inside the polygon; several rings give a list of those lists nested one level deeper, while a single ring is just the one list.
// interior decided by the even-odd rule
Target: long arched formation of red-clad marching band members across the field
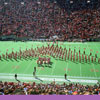
[{"label": "long arched formation of red-clad marching band members across the field", "polygon": [[[76,52],[76,49],[74,48],[74,51],[71,50],[71,48],[66,49],[63,47],[59,47],[58,45],[47,45],[47,46],[41,46],[41,47],[37,47],[35,49],[31,48],[31,49],[27,49],[26,50],[21,50],[19,49],[19,51],[14,52],[12,50],[11,53],[8,53],[6,51],[6,54],[2,54],[0,55],[0,60],[2,59],[26,59],[26,58],[38,58],[38,61],[43,61],[43,58],[41,60],[40,56],[52,56],[56,59],[61,59],[61,60],[70,60],[70,61],[77,61],[77,62],[98,62],[100,63],[100,58],[97,57],[97,54],[95,54],[95,56],[92,55],[92,53],[90,52],[89,55],[85,54],[85,50],[83,53],[81,53],[81,51],[79,50],[78,52]],[[44,60],[44,61],[50,61],[50,58],[48,58],[48,60]],[[38,62],[37,62],[38,63]]]}]

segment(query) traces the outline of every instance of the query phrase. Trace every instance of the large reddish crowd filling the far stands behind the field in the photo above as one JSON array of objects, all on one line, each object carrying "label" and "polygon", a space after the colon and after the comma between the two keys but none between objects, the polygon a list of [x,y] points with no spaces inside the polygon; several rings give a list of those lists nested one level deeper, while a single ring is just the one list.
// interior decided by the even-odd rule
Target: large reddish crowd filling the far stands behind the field
[{"label": "large reddish crowd filling the far stands behind the field", "polygon": [[[81,8],[81,7],[80,7]],[[71,12],[55,0],[0,0],[0,35],[60,39],[98,38],[100,9]]]}]

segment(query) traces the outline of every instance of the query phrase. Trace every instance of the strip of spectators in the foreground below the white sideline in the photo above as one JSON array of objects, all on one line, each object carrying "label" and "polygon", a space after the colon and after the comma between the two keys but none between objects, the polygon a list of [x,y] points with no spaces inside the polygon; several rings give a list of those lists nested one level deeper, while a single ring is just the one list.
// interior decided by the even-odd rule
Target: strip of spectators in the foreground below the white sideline
[{"label": "strip of spectators in the foreground below the white sideline", "polygon": [[0,82],[0,95],[100,95],[100,84]]}]

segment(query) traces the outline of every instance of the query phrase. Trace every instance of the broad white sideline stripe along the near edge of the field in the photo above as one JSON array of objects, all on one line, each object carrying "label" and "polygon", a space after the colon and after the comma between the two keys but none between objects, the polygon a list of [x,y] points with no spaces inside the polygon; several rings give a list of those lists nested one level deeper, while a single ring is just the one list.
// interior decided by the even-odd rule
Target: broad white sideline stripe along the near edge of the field
[{"label": "broad white sideline stripe along the near edge of the field", "polygon": [[[40,78],[40,77],[39,77]],[[14,77],[13,76],[0,76],[0,79],[9,79],[9,80],[14,80]],[[30,81],[33,81],[33,80],[37,80],[33,77],[18,77],[19,80],[30,80]],[[65,80],[65,79],[62,79],[62,78],[41,78],[41,80],[43,81],[58,81],[58,82],[79,82],[79,83],[97,83],[98,80],[82,80],[82,79],[69,79],[69,80]]]}]

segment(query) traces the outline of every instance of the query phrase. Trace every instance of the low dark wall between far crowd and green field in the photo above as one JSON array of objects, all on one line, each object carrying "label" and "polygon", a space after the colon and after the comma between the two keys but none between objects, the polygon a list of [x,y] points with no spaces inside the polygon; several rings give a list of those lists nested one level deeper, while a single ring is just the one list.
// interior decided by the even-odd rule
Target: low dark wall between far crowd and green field
[{"label": "low dark wall between far crowd and green field", "polygon": [[43,38],[38,38],[38,39],[34,39],[31,37],[17,37],[16,35],[9,35],[9,36],[1,36],[0,37],[0,41],[68,41],[68,42],[90,42],[90,41],[96,41],[96,42],[100,42],[100,37],[99,38],[89,38],[89,39],[79,39],[79,38],[69,38],[66,40],[60,40],[60,39],[56,39],[56,38],[50,38],[50,39],[43,39]]}]

